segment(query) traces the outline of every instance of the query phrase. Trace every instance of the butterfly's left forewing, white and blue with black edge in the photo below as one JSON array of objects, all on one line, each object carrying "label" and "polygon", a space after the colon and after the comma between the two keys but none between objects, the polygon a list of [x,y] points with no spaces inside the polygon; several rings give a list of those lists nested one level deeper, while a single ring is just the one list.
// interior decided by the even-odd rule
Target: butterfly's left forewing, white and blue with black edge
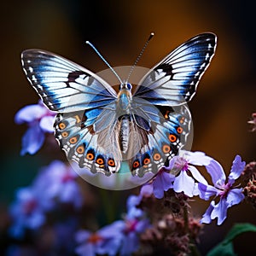
[{"label": "butterfly's left forewing, white and blue with black edge", "polygon": [[59,55],[27,49],[22,52],[21,61],[26,78],[52,111],[99,108],[116,99],[115,90],[107,82]]}]

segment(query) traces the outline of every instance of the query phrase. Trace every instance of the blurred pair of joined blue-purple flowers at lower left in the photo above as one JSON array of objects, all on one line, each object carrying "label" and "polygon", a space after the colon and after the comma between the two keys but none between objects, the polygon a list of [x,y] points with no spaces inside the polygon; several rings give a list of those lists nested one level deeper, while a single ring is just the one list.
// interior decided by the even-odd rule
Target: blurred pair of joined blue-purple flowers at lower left
[{"label": "blurred pair of joined blue-purple flowers at lower left", "polygon": [[42,168],[30,187],[18,189],[16,200],[10,207],[11,236],[22,238],[26,230],[40,228],[45,223],[47,212],[55,210],[58,203],[81,207],[77,176],[70,166],[55,160]]}]

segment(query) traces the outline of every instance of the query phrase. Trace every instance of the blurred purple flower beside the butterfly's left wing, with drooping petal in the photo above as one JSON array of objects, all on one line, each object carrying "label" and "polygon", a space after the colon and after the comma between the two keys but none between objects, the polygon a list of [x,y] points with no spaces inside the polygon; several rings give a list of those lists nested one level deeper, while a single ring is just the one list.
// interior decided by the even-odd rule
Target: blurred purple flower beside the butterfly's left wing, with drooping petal
[{"label": "blurred purple flower beside the butterfly's left wing, with drooping petal", "polygon": [[55,113],[44,107],[42,102],[21,108],[15,114],[15,123],[28,125],[22,137],[21,155],[35,154],[44,143],[44,133],[53,133]]}]

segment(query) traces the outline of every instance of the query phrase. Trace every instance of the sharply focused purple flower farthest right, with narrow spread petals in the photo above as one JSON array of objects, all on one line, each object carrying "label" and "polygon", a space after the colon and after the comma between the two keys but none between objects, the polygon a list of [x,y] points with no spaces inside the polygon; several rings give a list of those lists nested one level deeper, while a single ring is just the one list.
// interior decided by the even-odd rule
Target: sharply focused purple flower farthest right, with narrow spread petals
[{"label": "sharply focused purple flower farthest right, with narrow spread petals", "polygon": [[201,223],[209,224],[212,219],[218,218],[218,225],[222,224],[227,217],[228,208],[239,204],[244,199],[244,195],[241,193],[242,189],[237,189],[233,184],[240,177],[245,165],[245,162],[241,161],[241,157],[236,155],[227,183],[224,170],[218,161],[212,160],[207,166],[207,172],[211,175],[214,186],[199,183],[199,195],[204,200],[209,200],[212,195],[215,196],[215,200],[218,196],[219,201],[217,204],[215,201],[211,201],[210,207],[201,218]]}]

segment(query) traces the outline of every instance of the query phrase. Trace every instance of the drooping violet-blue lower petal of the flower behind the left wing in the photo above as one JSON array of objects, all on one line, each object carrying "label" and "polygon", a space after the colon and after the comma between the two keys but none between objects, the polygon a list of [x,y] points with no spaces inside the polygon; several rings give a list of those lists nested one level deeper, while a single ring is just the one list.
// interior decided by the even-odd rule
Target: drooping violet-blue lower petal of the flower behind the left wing
[{"label": "drooping violet-blue lower petal of the flower behind the left wing", "polygon": [[35,154],[44,143],[44,132],[39,127],[39,124],[33,125],[26,130],[22,137],[21,155],[26,153]]}]

